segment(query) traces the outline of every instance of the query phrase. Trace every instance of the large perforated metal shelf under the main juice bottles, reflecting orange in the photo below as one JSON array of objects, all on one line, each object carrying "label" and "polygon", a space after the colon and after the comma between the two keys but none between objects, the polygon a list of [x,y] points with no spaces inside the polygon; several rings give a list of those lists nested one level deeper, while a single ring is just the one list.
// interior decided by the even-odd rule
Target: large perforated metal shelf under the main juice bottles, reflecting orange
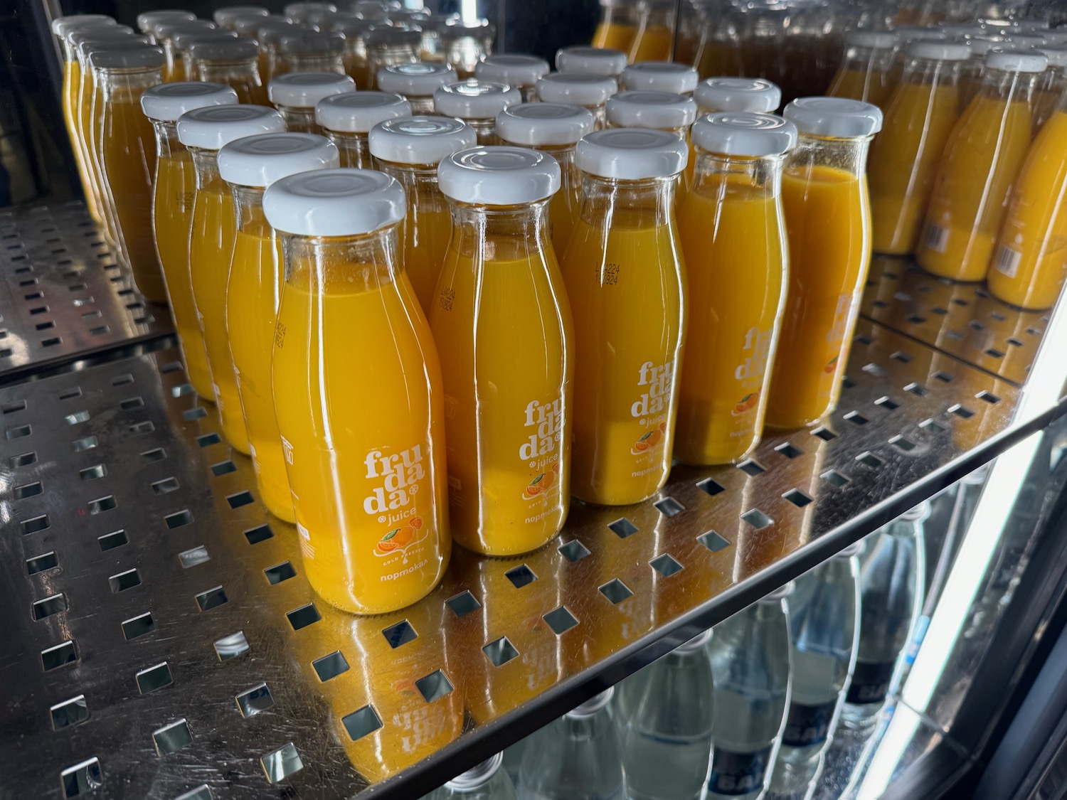
[{"label": "large perforated metal shelf under the main juice bottles, reflecting orange", "polygon": [[18,797],[418,797],[1060,413],[862,322],[840,410],[356,618],[164,351],[0,389],[0,771]]}]

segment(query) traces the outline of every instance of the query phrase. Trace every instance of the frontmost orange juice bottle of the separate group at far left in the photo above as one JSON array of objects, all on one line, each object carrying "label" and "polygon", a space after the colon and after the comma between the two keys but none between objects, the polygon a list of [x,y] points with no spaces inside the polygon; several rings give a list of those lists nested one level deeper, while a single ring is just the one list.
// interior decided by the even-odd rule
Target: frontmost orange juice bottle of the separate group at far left
[{"label": "frontmost orange juice bottle of the separate group at far left", "polygon": [[115,233],[138,289],[149,302],[165,303],[152,227],[156,140],[152,123],[141,112],[141,94],[161,80],[163,51],[148,46],[97,49],[89,61],[103,93],[100,171]]}]

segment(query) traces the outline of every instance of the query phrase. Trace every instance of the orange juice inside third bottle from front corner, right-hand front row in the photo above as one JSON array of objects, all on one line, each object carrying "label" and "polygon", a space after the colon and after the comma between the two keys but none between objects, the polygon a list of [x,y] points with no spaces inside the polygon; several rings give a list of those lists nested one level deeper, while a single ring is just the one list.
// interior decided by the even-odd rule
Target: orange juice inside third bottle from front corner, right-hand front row
[{"label": "orange juice inside third bottle from front corner, right-hand front row", "polygon": [[606,506],[667,480],[685,332],[676,234],[633,217],[607,231],[578,220],[562,266],[575,309],[571,492]]}]

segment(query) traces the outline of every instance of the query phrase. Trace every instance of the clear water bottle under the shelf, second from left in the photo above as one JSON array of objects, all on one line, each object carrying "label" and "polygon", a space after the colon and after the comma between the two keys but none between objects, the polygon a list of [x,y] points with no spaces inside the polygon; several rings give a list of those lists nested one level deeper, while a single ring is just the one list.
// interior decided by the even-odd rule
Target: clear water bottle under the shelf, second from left
[{"label": "clear water bottle under the shelf, second from left", "polygon": [[615,687],[529,737],[520,800],[622,800],[622,752],[608,703]]}]

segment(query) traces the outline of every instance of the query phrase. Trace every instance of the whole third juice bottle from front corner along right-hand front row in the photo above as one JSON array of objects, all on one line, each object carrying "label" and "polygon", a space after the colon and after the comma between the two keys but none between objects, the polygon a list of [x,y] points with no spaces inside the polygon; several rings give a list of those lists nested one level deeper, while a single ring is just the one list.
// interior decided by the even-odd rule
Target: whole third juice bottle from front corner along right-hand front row
[{"label": "whole third juice bottle from front corner along right-hand front row", "polygon": [[640,502],[670,471],[686,323],[674,192],[687,157],[659,130],[595,131],[575,150],[582,210],[562,268],[582,309],[571,491],[588,502]]}]

